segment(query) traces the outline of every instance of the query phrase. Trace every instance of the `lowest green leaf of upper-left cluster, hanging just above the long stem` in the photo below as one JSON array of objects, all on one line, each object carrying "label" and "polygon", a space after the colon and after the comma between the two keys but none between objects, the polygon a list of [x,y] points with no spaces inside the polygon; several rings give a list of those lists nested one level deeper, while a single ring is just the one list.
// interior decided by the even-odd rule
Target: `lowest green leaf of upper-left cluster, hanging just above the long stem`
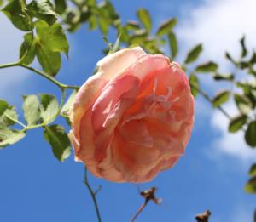
[{"label": "lowest green leaf of upper-left cluster, hanging just above the long stem", "polygon": [[41,43],[37,43],[36,54],[43,70],[50,76],[55,76],[61,69],[60,53],[53,53],[49,48],[42,46]]}]

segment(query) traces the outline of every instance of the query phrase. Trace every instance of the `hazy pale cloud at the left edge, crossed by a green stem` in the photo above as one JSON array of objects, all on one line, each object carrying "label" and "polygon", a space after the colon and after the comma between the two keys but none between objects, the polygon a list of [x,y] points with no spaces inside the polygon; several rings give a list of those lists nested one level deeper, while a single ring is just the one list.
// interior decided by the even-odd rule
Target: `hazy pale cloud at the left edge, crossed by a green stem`
[{"label": "hazy pale cloud at the left edge, crossed by a green stem", "polygon": [[[22,43],[22,31],[11,24],[3,13],[0,13],[0,64],[15,62],[19,59],[20,43]],[[21,94],[25,87],[24,82],[30,76],[21,68],[8,68],[0,70],[0,97],[15,102],[17,94]]]}]

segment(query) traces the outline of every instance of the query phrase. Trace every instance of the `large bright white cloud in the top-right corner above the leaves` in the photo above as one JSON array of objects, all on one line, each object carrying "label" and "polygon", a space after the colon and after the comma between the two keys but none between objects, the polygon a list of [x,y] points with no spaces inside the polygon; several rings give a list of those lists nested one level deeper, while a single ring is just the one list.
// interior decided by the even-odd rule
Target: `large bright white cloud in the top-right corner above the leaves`
[{"label": "large bright white cloud in the top-right corner above the leaves", "polygon": [[239,55],[238,40],[256,48],[255,0],[206,0],[195,9],[185,8],[177,35],[187,47],[203,43],[204,55],[223,64],[224,52]]}]

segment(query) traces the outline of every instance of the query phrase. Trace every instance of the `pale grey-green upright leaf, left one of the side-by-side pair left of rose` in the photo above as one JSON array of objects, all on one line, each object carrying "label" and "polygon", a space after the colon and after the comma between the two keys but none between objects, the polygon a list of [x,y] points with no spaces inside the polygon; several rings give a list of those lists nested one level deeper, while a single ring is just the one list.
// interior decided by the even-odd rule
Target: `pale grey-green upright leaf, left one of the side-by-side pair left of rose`
[{"label": "pale grey-green upright leaf, left one of the side-by-side pair left of rose", "polygon": [[27,124],[36,124],[40,118],[40,104],[37,95],[23,96],[23,111]]}]

